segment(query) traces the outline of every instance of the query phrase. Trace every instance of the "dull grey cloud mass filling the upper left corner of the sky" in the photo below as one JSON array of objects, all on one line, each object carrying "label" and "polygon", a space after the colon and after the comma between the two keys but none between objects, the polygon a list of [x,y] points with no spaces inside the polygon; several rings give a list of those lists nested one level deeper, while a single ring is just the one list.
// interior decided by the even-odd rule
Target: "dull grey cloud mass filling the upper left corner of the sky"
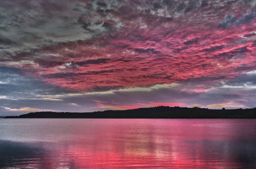
[{"label": "dull grey cloud mass filling the upper left corner of the sky", "polygon": [[113,20],[111,15],[100,16],[98,6],[114,8],[97,2],[68,0],[1,1],[0,47],[14,52],[91,39],[112,26],[104,21]]}]

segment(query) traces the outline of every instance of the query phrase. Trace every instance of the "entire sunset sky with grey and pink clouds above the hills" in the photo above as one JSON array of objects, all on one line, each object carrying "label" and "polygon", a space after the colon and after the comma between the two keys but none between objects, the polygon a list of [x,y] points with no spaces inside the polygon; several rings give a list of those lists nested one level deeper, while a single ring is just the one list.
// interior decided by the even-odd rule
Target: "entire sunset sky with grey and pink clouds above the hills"
[{"label": "entire sunset sky with grey and pink clouds above the hills", "polygon": [[255,0],[0,1],[0,116],[255,103]]}]

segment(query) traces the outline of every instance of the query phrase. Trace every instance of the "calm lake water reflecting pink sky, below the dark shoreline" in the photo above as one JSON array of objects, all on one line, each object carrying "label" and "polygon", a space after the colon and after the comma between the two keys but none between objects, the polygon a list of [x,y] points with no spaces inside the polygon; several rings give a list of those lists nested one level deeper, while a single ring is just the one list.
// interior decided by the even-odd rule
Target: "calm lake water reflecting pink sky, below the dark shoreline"
[{"label": "calm lake water reflecting pink sky, below the dark shoreline", "polygon": [[0,119],[0,168],[256,168],[256,120]]}]

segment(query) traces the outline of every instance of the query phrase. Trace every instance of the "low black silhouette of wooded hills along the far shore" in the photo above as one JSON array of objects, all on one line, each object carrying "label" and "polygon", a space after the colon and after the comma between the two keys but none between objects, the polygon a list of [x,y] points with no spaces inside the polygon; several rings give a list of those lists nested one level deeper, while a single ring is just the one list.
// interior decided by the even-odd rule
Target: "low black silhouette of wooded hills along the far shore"
[{"label": "low black silhouette of wooded hills along the far shore", "polygon": [[95,112],[30,112],[5,118],[95,118],[95,119],[256,119],[256,108],[208,109],[158,106]]}]

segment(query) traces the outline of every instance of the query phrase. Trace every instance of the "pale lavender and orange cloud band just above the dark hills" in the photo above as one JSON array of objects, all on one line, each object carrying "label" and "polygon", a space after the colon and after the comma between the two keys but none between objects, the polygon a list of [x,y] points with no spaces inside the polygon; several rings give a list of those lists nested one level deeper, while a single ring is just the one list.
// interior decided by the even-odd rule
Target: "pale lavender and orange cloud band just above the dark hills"
[{"label": "pale lavender and orange cloud band just above the dark hills", "polygon": [[[241,79],[240,81],[241,77],[247,77],[247,79]],[[2,99],[1,104],[5,107],[12,107],[13,105],[15,107],[27,107],[29,103],[31,105],[47,107],[42,109],[75,112],[154,107],[160,105],[208,107],[211,104],[221,104],[225,108],[254,107],[256,89],[246,88],[246,86],[236,87],[237,83],[246,80],[250,81],[250,79],[253,80],[254,78],[251,75],[246,75],[246,73],[241,77],[238,76],[225,82],[215,81],[210,78],[199,78],[173,85],[157,85],[151,88],[118,89],[91,93],[63,93],[61,91],[59,93],[56,93],[57,91],[55,93],[47,93],[47,90],[45,90],[45,93],[36,94],[34,97],[50,98],[49,100],[30,99],[26,98],[25,95],[22,99]],[[32,95],[29,97],[32,97]],[[198,105],[198,103],[200,104]],[[58,105],[57,108],[56,105]],[[222,106],[208,108],[222,108]],[[1,112],[2,115],[8,115],[10,111],[2,108]],[[22,111],[15,112],[22,113]]]}]

